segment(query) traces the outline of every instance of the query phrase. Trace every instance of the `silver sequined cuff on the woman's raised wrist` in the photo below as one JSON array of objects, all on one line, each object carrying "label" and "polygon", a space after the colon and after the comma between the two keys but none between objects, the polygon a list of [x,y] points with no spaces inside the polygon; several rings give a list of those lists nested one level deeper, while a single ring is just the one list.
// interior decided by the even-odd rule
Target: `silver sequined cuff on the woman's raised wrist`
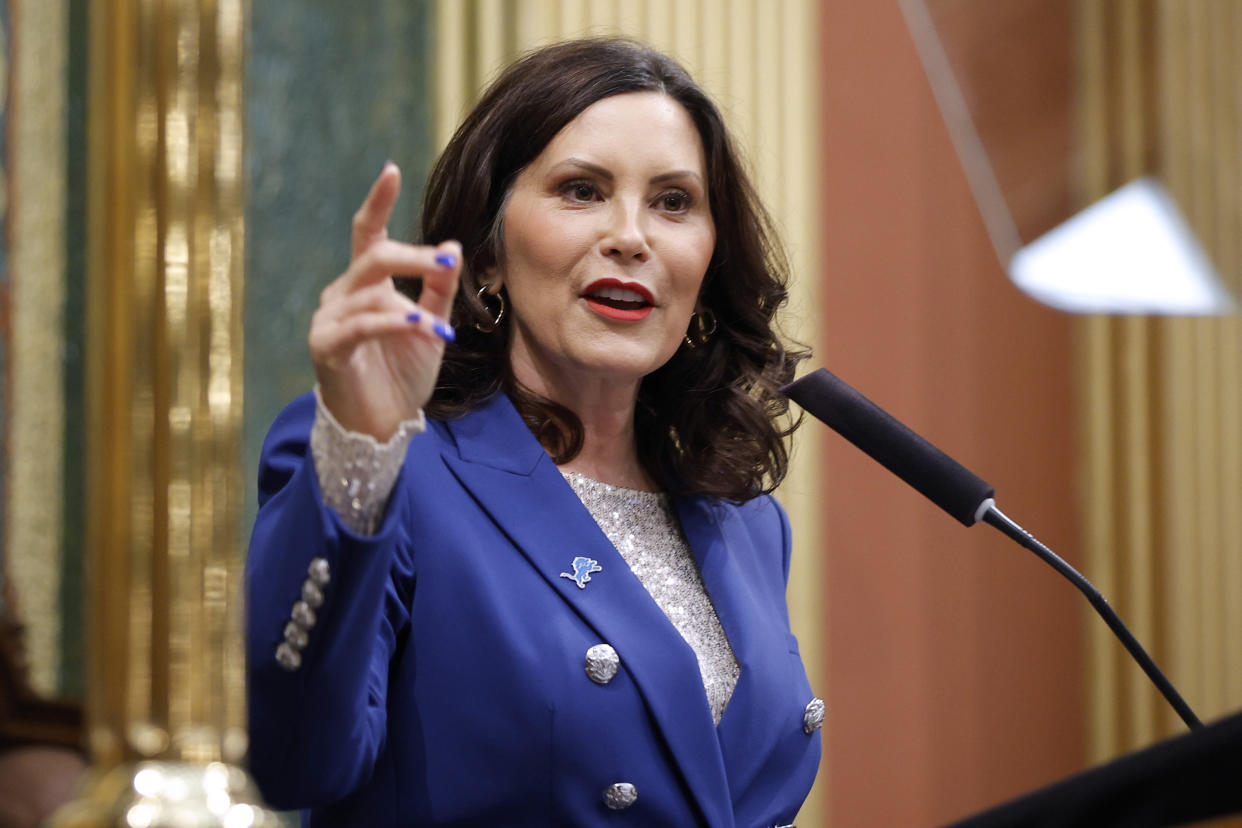
[{"label": "silver sequined cuff on the woman's raised wrist", "polygon": [[405,462],[410,439],[427,428],[422,412],[397,426],[381,443],[370,434],[347,431],[328,411],[314,389],[314,425],[310,427],[310,457],[314,458],[323,502],[342,523],[359,535],[374,535],[384,516],[392,484]]}]

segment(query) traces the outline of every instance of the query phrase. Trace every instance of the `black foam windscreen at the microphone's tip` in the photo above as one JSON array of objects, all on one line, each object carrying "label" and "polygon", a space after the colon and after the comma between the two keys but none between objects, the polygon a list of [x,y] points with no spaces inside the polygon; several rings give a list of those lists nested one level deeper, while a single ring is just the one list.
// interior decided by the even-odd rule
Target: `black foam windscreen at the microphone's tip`
[{"label": "black foam windscreen at the microphone's tip", "polygon": [[996,490],[826,369],[781,391],[876,462],[971,526]]}]

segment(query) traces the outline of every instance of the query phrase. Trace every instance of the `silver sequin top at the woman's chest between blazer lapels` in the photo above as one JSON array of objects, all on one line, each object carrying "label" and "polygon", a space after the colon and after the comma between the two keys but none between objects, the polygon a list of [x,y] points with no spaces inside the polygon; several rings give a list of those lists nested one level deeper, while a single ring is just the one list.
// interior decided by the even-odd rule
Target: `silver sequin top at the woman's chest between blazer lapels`
[{"label": "silver sequin top at the woman's chest between blazer lapels", "polygon": [[740,667],[668,495],[622,489],[571,472],[561,474],[694,650],[712,720],[720,724],[738,684]]}]

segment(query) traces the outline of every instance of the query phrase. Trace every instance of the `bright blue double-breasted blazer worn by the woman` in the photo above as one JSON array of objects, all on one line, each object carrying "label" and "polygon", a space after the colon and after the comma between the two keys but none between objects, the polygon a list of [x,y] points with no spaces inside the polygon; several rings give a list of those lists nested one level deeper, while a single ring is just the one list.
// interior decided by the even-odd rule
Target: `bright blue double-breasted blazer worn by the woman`
[{"label": "bright blue double-breasted blazer worn by the woman", "polygon": [[[247,562],[251,770],[312,826],[791,823],[820,761],[770,497],[676,499],[741,674],[719,726],[694,653],[509,400],[428,421],[378,534],[323,505],[309,395],[272,426]],[[584,588],[561,572],[586,556]],[[330,582],[301,650],[274,652],[308,566]],[[586,650],[611,644],[596,684]],[[623,809],[604,792],[630,783]]]}]

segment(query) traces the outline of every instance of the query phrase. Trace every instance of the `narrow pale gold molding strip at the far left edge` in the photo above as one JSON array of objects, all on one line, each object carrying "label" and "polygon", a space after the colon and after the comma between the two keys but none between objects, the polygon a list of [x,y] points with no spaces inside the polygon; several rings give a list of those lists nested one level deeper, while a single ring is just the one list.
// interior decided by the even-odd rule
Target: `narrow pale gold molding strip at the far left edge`
[{"label": "narrow pale gold molding strip at the far left edge", "polygon": [[9,212],[9,479],[4,538],[26,627],[31,688],[60,693],[65,516],[65,0],[14,7]]}]

